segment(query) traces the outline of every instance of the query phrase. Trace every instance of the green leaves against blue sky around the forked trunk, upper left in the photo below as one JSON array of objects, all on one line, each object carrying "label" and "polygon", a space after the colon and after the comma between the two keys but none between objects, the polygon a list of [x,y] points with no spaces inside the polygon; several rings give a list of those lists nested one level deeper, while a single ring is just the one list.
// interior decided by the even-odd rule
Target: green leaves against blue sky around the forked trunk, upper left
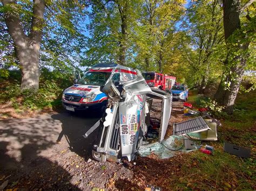
[{"label": "green leaves against blue sky around the forked trunk, upper left", "polygon": [[[19,67],[19,61],[14,43],[5,25],[3,12],[15,12],[21,20],[24,33],[29,35],[33,17],[33,2],[17,1],[11,5],[2,6],[2,3],[0,5],[0,68],[2,68],[0,75],[6,76],[6,69]],[[37,29],[43,31],[40,66],[70,73],[84,60],[82,51],[85,48],[86,39],[84,36],[85,2],[45,1],[45,5],[43,29]]]}]

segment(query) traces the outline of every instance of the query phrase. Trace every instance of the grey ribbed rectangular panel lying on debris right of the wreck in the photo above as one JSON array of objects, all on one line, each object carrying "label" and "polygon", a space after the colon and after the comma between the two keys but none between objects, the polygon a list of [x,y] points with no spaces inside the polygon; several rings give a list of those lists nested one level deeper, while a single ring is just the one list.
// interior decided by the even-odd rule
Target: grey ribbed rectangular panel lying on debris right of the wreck
[{"label": "grey ribbed rectangular panel lying on debris right of the wreck", "polygon": [[188,121],[173,124],[173,135],[183,135],[185,133],[207,130],[209,126],[202,117],[189,119]]}]

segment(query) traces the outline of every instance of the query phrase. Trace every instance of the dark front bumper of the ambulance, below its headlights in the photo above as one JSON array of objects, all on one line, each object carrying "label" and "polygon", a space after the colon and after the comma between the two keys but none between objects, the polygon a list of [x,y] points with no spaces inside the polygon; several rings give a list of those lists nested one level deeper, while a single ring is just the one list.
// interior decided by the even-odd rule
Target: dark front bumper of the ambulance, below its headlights
[{"label": "dark front bumper of the ambulance, below its headlights", "polygon": [[65,109],[67,107],[74,108],[74,111],[97,110],[102,108],[106,104],[107,104],[107,101],[103,101],[101,103],[70,103],[68,101],[62,100],[62,105]]}]

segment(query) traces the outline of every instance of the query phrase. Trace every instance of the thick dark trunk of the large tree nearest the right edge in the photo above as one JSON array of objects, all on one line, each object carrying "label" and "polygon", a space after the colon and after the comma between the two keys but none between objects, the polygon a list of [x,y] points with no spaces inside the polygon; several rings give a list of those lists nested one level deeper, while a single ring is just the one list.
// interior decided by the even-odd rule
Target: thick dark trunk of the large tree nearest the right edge
[{"label": "thick dark trunk of the large tree nearest the right edge", "polygon": [[[224,0],[223,5],[224,5],[225,40],[226,40],[226,44],[229,49],[229,52],[227,55],[227,59],[224,63],[226,67],[226,71],[223,74],[222,80],[219,84],[218,90],[214,98],[218,101],[218,103],[226,107],[225,110],[227,114],[232,114],[235,98],[237,97],[240,83],[242,81],[242,76],[244,75],[248,54],[241,53],[240,55],[234,56],[234,58],[231,61],[228,58],[231,56],[233,57],[233,52],[235,53],[238,51],[246,52],[248,49],[249,43],[246,42],[244,44],[239,44],[236,46],[233,46],[232,43],[230,43],[230,40],[231,40],[230,38],[232,34],[234,34],[235,31],[241,28],[240,19],[239,19],[240,1]],[[232,37],[232,38],[237,38],[237,37]],[[242,38],[241,35],[239,36],[239,38]],[[238,39],[237,41],[239,43]],[[237,64],[235,64],[235,62],[237,62]],[[234,79],[234,74],[235,76],[237,76],[236,79]],[[224,86],[225,82],[226,84],[229,83],[230,86],[229,87]]]}]

